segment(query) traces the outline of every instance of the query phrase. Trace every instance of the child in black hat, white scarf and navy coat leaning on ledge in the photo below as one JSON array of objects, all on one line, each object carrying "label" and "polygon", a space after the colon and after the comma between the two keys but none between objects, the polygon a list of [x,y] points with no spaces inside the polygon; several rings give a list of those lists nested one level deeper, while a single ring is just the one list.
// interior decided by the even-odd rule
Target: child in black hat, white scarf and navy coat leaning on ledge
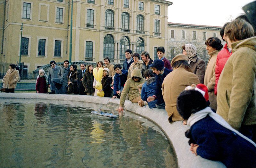
[{"label": "child in black hat, white scarf and navy coat leaning on ledge", "polygon": [[177,110],[190,126],[185,135],[192,153],[221,161],[227,168],[256,167],[256,144],[214,113],[200,92],[181,92]]}]

